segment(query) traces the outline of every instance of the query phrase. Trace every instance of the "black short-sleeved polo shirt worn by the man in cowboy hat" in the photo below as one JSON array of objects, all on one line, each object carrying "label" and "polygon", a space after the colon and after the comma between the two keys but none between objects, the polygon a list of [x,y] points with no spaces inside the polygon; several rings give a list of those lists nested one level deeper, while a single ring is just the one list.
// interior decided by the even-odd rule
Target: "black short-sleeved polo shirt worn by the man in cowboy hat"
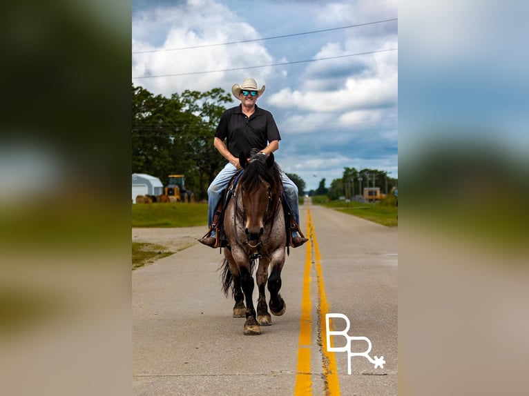
[{"label": "black short-sleeved polo shirt worn by the man in cowboy hat", "polygon": [[249,157],[250,150],[262,150],[273,140],[281,140],[278,126],[272,113],[256,106],[253,115],[247,117],[241,106],[229,108],[222,114],[215,137],[227,139],[227,148],[235,157],[241,152]]}]

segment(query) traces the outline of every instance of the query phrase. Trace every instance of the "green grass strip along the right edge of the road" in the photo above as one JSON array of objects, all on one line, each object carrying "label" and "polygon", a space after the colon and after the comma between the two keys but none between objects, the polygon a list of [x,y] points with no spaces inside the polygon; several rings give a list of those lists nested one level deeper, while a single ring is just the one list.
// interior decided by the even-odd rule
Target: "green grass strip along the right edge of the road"
[{"label": "green grass strip along the right edge of the road", "polygon": [[383,226],[398,226],[398,208],[396,206],[383,206],[380,202],[372,204],[357,201],[350,201],[349,203],[345,201],[328,201],[327,197],[323,196],[312,197],[312,203],[347,213],[347,215],[374,221]]}]

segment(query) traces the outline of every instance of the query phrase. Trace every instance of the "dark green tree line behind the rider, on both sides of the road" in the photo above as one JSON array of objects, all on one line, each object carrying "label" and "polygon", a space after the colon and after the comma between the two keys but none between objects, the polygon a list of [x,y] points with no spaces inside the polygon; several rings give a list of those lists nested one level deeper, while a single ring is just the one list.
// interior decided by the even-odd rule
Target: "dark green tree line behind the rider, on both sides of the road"
[{"label": "dark green tree line behind the rider, on both sides of the road", "polygon": [[[222,88],[207,92],[185,90],[171,97],[153,95],[141,86],[132,84],[132,172],[158,177],[166,186],[169,175],[182,174],[187,188],[196,199],[207,198],[207,188],[226,164],[226,160],[213,146],[218,121],[228,106],[233,106],[231,95]],[[362,175],[374,176],[372,179]],[[305,181],[296,174],[287,173],[305,193]],[[358,176],[360,175],[360,176]],[[367,181],[369,179],[369,181]],[[395,186],[380,170],[345,168],[341,179],[334,179],[329,188],[325,179],[309,195],[327,195],[331,199],[360,194],[363,187],[377,186],[385,192]]]}]

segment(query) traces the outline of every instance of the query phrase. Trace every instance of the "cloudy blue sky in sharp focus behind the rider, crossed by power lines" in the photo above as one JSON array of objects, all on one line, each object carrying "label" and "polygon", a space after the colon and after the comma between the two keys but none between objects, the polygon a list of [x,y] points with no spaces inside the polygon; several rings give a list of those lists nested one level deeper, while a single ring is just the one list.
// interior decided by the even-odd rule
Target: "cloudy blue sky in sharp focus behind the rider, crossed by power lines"
[{"label": "cloudy blue sky in sharp focus behind the rider, crossed by power lines", "polygon": [[346,167],[396,178],[397,18],[394,0],[133,0],[132,81],[169,97],[253,77],[307,190]]}]

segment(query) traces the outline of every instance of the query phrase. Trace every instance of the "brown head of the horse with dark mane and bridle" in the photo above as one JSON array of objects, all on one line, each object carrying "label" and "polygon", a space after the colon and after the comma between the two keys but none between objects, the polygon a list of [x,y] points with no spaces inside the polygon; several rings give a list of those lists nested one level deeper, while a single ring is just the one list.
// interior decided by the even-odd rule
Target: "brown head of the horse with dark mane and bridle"
[{"label": "brown head of the horse with dark mane and bridle", "polygon": [[246,215],[244,232],[249,244],[255,245],[264,232],[265,217],[273,209],[271,203],[278,195],[278,170],[273,154],[268,157],[258,154],[250,159],[241,154],[239,163],[244,168],[239,181]]}]

